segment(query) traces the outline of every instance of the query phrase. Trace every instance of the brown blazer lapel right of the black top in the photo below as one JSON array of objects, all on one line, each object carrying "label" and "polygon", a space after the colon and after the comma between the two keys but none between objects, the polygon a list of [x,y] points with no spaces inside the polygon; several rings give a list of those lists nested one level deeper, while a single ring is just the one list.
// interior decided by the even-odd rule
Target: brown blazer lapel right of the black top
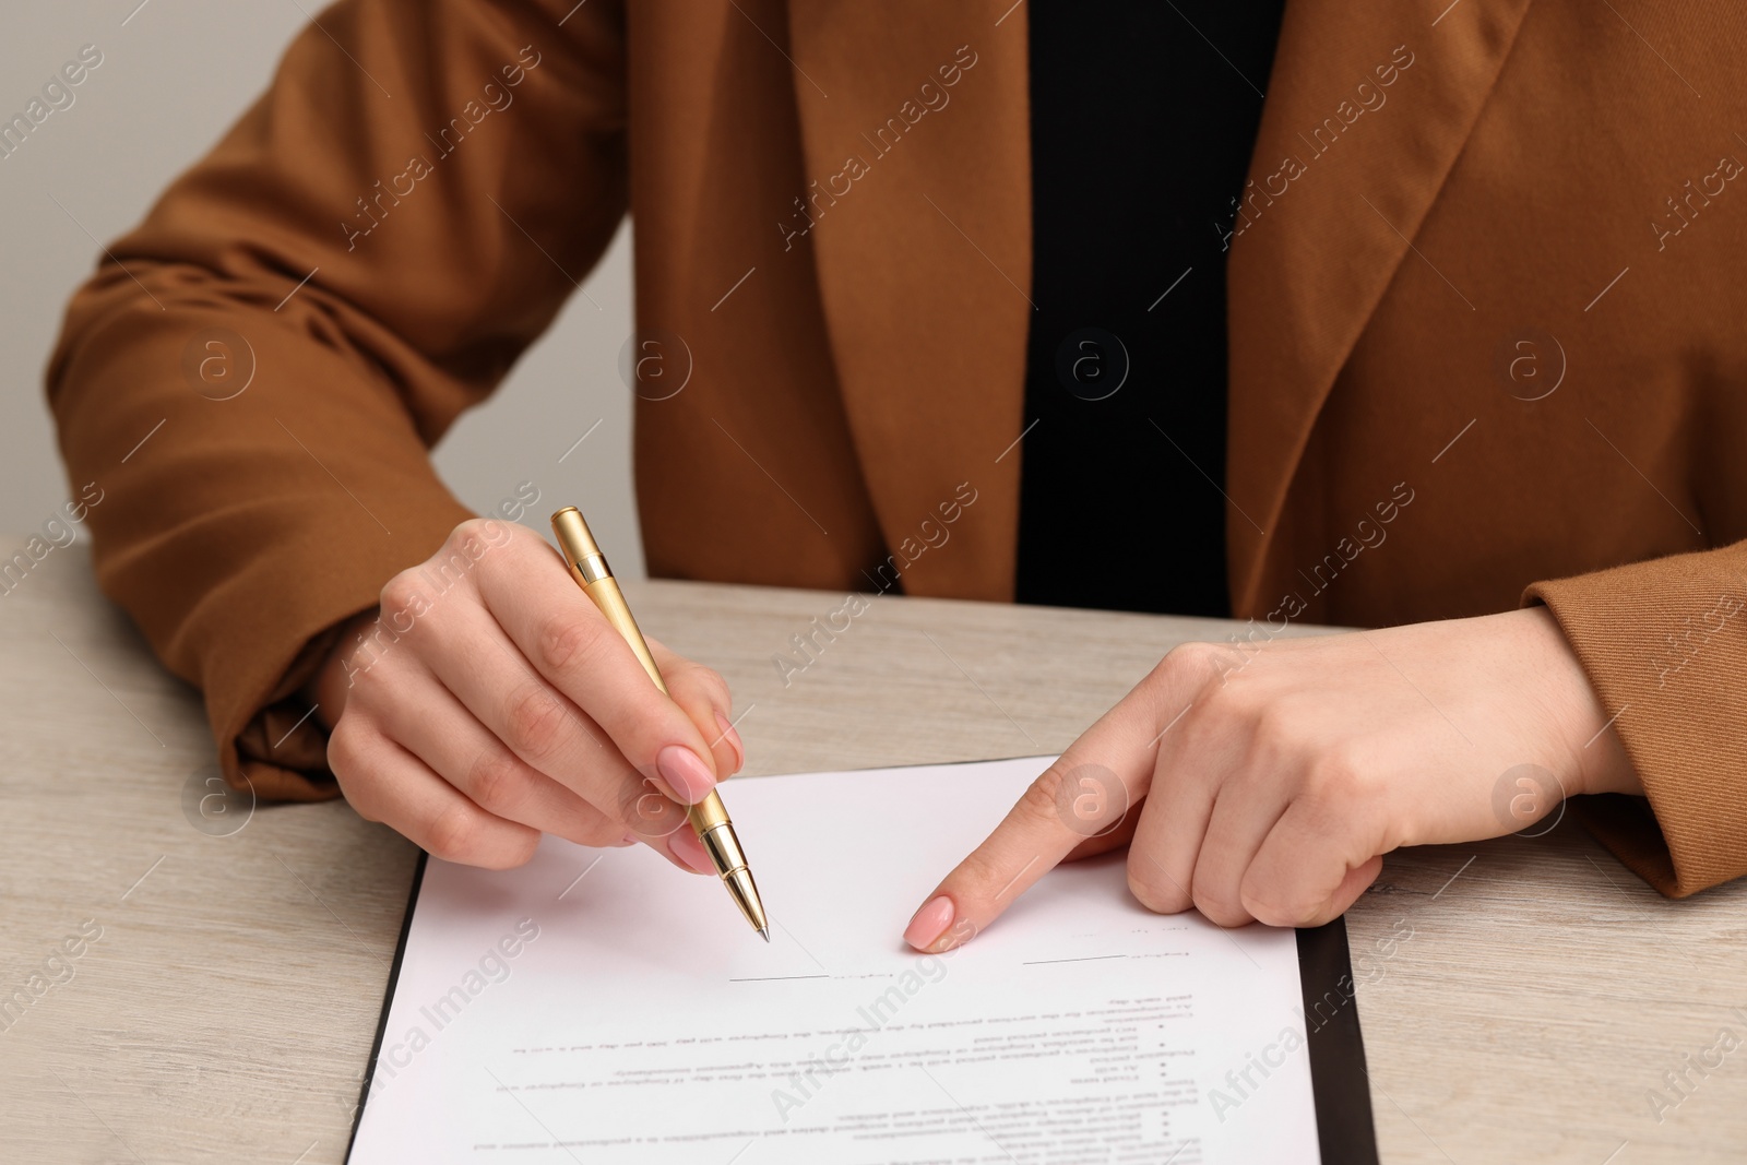
[{"label": "brown blazer lapel right of the black top", "polygon": [[[1286,7],[1230,255],[1226,489],[1242,512],[1226,522],[1233,611],[1256,606],[1317,412],[1412,253],[1529,9],[1445,2]],[[1454,288],[1450,304],[1473,309]]]}]

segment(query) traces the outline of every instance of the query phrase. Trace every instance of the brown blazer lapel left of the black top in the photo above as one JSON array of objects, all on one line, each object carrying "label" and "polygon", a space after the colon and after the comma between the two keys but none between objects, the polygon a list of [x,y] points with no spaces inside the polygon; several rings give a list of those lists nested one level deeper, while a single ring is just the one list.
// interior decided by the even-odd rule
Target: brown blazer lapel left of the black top
[{"label": "brown blazer lapel left of the black top", "polygon": [[790,0],[807,189],[784,259],[816,265],[860,473],[910,594],[1013,596],[1019,456],[1003,454],[1032,307],[1010,5]]}]

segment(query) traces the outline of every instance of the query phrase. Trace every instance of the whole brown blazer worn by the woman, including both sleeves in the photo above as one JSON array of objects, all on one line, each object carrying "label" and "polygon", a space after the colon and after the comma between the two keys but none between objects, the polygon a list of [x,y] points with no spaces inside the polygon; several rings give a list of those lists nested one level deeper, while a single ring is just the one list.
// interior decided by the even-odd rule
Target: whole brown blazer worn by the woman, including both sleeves
[{"label": "whole brown blazer worn by the woman, including both sleeves", "polygon": [[[332,791],[320,732],[278,742],[287,697],[468,515],[426,449],[627,206],[645,351],[690,367],[636,412],[652,573],[1012,597],[1022,3],[318,23],[114,243],[49,369],[72,479],[105,498],[100,580],[204,690],[234,781]],[[1232,246],[1233,610],[1267,634],[1546,603],[1654,812],[1588,816],[1670,894],[1747,870],[1744,44],[1733,0],[1291,0],[1251,185],[1207,224]]]}]

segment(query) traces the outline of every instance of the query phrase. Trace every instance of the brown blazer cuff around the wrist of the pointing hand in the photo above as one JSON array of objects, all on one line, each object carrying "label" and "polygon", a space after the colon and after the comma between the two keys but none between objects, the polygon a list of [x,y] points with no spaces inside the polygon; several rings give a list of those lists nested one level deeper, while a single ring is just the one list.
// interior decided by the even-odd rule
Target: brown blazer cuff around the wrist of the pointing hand
[{"label": "brown blazer cuff around the wrist of the pointing hand", "polygon": [[1572,800],[1670,898],[1747,873],[1747,541],[1537,582],[1647,796]]}]

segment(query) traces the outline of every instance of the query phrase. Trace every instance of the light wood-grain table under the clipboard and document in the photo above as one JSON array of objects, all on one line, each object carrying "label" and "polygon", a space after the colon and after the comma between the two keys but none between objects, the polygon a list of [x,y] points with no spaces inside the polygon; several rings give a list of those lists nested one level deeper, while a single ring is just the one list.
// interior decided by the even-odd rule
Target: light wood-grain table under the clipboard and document
[{"label": "light wood-grain table under the clipboard and document", "polygon": [[[753,774],[1060,751],[1228,631],[880,597],[784,686],[772,655],[842,596],[627,590],[734,685]],[[0,597],[0,999],[65,980],[0,1031],[0,1160],[341,1162],[414,847],[344,803],[197,830],[199,697],[77,547]],[[1686,1097],[1663,1079],[1721,1029],[1747,1043],[1747,886],[1665,901],[1567,823],[1392,854],[1347,924],[1385,1162],[1747,1156],[1747,1050]],[[68,959],[80,926],[101,936]],[[1679,1102],[1660,1121],[1651,1088]]]}]

